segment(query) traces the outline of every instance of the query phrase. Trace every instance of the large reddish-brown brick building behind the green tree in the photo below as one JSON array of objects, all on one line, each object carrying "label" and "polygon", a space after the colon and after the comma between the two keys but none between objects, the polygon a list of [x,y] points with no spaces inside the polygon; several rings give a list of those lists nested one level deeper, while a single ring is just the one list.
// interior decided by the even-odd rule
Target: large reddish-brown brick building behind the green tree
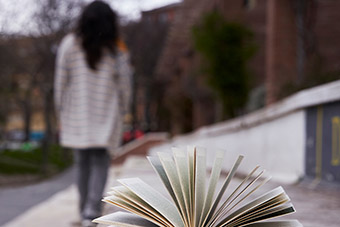
[{"label": "large reddish-brown brick building behind the green tree", "polygon": [[[184,0],[157,65],[158,80],[164,84],[163,104],[178,107],[170,110],[172,132],[216,121],[218,106],[211,91],[193,79],[201,60],[193,48],[191,28],[205,12],[218,10],[228,21],[254,32],[258,50],[249,63],[252,87],[262,88],[265,98],[260,103],[270,105],[289,94],[286,87],[340,78],[339,9],[335,0]],[[178,110],[181,106],[185,108]]]}]

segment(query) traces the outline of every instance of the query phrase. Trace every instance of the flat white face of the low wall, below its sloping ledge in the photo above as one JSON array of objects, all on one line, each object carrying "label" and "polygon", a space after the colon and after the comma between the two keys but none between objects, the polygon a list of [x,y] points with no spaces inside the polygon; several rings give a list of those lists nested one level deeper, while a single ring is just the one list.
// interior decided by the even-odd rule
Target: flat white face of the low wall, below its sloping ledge
[{"label": "flat white face of the low wall, below its sloping ledge", "polygon": [[273,180],[292,183],[304,175],[304,122],[305,114],[300,110],[236,132],[179,136],[170,143],[152,148],[150,153],[170,151],[173,146],[201,146],[208,149],[207,165],[211,167],[214,151],[223,149],[226,151],[225,170],[229,170],[237,156],[242,154],[245,158],[239,168],[241,173],[248,173],[256,165],[261,165]]}]

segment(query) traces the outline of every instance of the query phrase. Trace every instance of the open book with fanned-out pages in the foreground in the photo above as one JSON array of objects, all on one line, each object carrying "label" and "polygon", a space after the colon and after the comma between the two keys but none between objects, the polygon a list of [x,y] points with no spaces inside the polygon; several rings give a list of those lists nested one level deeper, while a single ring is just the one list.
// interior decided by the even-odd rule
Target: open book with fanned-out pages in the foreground
[{"label": "open book with fanned-out pages in the foreground", "polygon": [[[282,187],[246,202],[247,198],[265,184],[264,170],[256,166],[238,186],[227,190],[243,156],[239,156],[220,185],[225,152],[217,151],[209,181],[206,152],[203,148],[188,150],[173,148],[170,153],[148,157],[161,178],[173,202],[139,178],[120,179],[104,202],[127,212],[116,212],[94,220],[112,226],[252,226],[298,227],[296,220],[264,221],[295,212]],[[216,190],[217,186],[220,186]],[[228,191],[228,193],[226,193]],[[249,199],[249,198],[248,198]]]}]

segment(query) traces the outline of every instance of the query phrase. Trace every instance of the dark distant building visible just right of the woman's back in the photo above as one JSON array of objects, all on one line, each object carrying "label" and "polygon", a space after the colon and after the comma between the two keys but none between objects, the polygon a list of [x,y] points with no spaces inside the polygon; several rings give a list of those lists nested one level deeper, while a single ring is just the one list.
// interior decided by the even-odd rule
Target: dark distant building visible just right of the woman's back
[{"label": "dark distant building visible just right of the woman's back", "polygon": [[135,68],[132,119],[133,128],[143,131],[155,130],[155,96],[152,91],[154,71],[169,26],[176,18],[180,3],[142,11],[140,21],[127,24],[124,29],[125,40],[131,52]]}]

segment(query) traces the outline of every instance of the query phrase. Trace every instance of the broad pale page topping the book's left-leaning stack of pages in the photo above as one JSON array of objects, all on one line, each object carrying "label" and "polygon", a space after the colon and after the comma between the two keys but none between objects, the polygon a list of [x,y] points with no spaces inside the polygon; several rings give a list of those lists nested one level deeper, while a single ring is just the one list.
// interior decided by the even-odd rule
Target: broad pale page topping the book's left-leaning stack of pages
[{"label": "broad pale page topping the book's left-leaning stack of pages", "polygon": [[118,180],[122,185],[129,188],[150,206],[156,209],[174,226],[184,227],[181,216],[176,207],[154,188],[144,183],[139,178],[129,178]]}]

